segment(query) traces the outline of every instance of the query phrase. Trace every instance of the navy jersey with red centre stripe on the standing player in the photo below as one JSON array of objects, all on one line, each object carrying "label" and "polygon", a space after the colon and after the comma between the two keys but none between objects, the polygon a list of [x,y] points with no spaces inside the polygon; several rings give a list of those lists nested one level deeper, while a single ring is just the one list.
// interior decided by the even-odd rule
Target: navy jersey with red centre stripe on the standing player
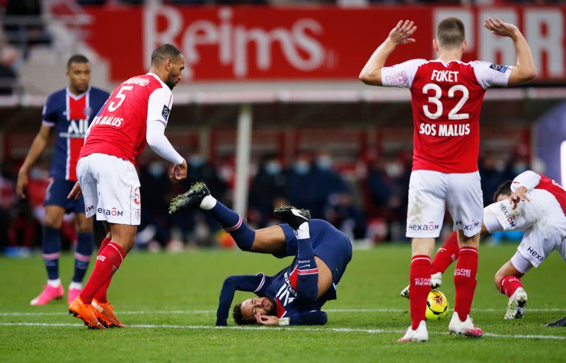
[{"label": "navy jersey with red centre stripe on the standing player", "polygon": [[76,180],[84,135],[93,118],[102,108],[110,93],[89,87],[75,96],[69,88],[51,93],[43,107],[43,125],[55,129],[55,149],[51,163],[52,178]]}]

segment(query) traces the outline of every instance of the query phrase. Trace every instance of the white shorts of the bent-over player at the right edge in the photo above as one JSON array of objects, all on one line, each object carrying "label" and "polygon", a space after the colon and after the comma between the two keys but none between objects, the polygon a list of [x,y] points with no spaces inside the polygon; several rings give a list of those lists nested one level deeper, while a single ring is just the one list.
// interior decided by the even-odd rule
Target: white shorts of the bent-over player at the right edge
[{"label": "white shorts of the bent-over player at the right edge", "polygon": [[[517,251],[531,265],[541,265],[553,250],[558,250],[562,259],[566,260],[566,223],[558,224],[554,218],[544,218],[525,232]],[[513,261],[512,261],[513,262]],[[519,270],[519,268],[517,268]]]}]

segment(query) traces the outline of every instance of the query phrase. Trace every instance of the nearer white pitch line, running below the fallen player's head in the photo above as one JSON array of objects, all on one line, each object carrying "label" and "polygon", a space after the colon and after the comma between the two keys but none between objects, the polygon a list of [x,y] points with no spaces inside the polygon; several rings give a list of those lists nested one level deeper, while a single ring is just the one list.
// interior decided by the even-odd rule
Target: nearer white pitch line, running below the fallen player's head
[{"label": "nearer white pitch line, running below the fallen player's head", "polygon": [[[42,327],[70,327],[82,328],[83,324],[71,323],[0,323],[0,326],[42,326]],[[191,330],[273,330],[278,328],[269,328],[265,326],[210,326],[210,325],[161,325],[161,324],[132,324],[127,325],[127,328],[168,328],[168,329],[191,329]],[[404,330],[386,330],[386,329],[357,329],[357,328],[279,328],[279,330],[294,330],[294,331],[320,331],[320,332],[333,332],[333,333],[369,333],[369,334],[398,334],[403,333]],[[448,335],[448,333],[434,333],[434,335]],[[506,335],[506,334],[493,334],[485,333],[486,337],[490,338],[509,338],[509,339],[548,339],[548,340],[566,340],[566,335]]]}]

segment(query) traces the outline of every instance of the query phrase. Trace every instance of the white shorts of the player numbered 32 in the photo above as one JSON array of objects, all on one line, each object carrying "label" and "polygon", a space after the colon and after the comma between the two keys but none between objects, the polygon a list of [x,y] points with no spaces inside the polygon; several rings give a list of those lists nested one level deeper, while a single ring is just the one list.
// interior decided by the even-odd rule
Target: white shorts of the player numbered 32
[{"label": "white shorts of the player numbered 32", "polygon": [[406,236],[440,236],[446,207],[454,220],[454,231],[461,229],[467,237],[480,233],[483,216],[480,173],[413,171],[409,182]]}]

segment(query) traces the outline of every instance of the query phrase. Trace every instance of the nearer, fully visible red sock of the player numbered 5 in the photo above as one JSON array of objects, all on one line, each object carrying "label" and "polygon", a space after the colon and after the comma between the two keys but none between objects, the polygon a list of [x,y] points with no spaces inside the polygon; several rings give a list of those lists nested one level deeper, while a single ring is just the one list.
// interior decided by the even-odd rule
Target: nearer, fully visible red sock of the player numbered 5
[{"label": "nearer, fully visible red sock of the player numbered 5", "polygon": [[103,248],[102,252],[96,257],[93,274],[88,279],[83,291],[79,295],[84,304],[91,304],[98,289],[100,289],[105,282],[110,280],[110,277],[118,270],[124,258],[124,250],[115,242],[109,242],[108,245]]}]

